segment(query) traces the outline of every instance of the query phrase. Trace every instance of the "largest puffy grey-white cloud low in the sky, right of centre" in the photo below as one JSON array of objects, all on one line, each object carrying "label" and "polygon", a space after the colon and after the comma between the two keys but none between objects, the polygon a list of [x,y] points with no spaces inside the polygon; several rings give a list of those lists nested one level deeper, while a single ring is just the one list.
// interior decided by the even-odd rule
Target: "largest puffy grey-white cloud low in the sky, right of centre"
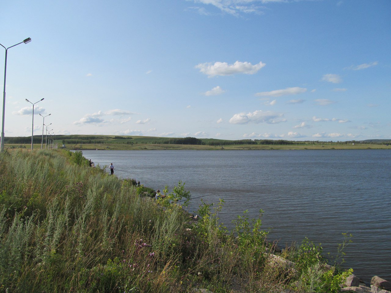
[{"label": "largest puffy grey-white cloud low in the sky, right of centre", "polygon": [[238,113],[233,115],[230,119],[232,124],[248,124],[248,123],[280,123],[285,122],[286,119],[282,118],[283,114],[273,111],[256,110],[253,113]]}]

